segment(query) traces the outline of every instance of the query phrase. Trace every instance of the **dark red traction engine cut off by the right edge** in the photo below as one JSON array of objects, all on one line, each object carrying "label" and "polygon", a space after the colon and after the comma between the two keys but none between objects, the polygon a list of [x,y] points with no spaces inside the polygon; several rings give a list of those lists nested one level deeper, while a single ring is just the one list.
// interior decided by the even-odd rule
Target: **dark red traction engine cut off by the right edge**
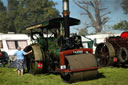
[{"label": "dark red traction engine cut off by the right edge", "polygon": [[111,36],[98,44],[95,56],[99,66],[117,66],[128,64],[128,32],[120,36]]}]

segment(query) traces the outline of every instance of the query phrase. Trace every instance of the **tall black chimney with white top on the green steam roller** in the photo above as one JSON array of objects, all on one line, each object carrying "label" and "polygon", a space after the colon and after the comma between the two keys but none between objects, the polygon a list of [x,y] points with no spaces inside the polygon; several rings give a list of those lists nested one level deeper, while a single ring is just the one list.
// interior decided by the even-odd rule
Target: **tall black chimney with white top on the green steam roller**
[{"label": "tall black chimney with white top on the green steam roller", "polygon": [[69,0],[63,0],[63,18],[64,18],[64,31],[65,37],[70,36],[70,29],[69,29]]}]

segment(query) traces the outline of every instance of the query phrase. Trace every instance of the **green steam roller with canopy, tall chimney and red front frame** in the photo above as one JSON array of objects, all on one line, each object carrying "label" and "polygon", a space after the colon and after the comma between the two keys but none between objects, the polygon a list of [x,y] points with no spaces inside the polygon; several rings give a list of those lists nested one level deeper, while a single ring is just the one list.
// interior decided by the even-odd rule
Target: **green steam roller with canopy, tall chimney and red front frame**
[{"label": "green steam roller with canopy, tall chimney and red front frame", "polygon": [[32,44],[25,51],[28,72],[59,73],[66,82],[97,77],[97,62],[92,48],[84,48],[80,35],[70,33],[70,26],[80,20],[69,16],[69,0],[63,0],[63,17],[26,27]]}]

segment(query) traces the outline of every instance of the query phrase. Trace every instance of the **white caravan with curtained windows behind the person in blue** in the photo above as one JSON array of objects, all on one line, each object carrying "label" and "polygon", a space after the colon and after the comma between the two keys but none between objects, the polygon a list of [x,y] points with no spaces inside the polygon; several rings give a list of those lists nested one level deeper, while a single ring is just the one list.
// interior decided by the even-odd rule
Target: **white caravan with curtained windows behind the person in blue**
[{"label": "white caravan with curtained windows behind the person in blue", "polygon": [[0,49],[12,57],[16,48],[20,46],[24,49],[30,44],[30,38],[26,34],[2,34],[0,33]]}]

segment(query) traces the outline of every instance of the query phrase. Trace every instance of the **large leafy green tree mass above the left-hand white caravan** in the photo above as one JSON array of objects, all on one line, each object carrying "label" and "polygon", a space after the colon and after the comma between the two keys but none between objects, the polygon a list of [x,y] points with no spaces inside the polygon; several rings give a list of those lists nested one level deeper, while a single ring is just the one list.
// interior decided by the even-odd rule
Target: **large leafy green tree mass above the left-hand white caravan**
[{"label": "large leafy green tree mass above the left-hand white caravan", "polygon": [[[55,8],[56,3],[52,0],[8,0],[8,6],[2,6],[5,9],[7,23],[6,31],[23,33],[25,27],[30,24],[36,24],[59,16]],[[1,5],[0,5],[1,6]],[[2,24],[4,26],[5,24]],[[2,28],[2,27],[1,27]]]}]

